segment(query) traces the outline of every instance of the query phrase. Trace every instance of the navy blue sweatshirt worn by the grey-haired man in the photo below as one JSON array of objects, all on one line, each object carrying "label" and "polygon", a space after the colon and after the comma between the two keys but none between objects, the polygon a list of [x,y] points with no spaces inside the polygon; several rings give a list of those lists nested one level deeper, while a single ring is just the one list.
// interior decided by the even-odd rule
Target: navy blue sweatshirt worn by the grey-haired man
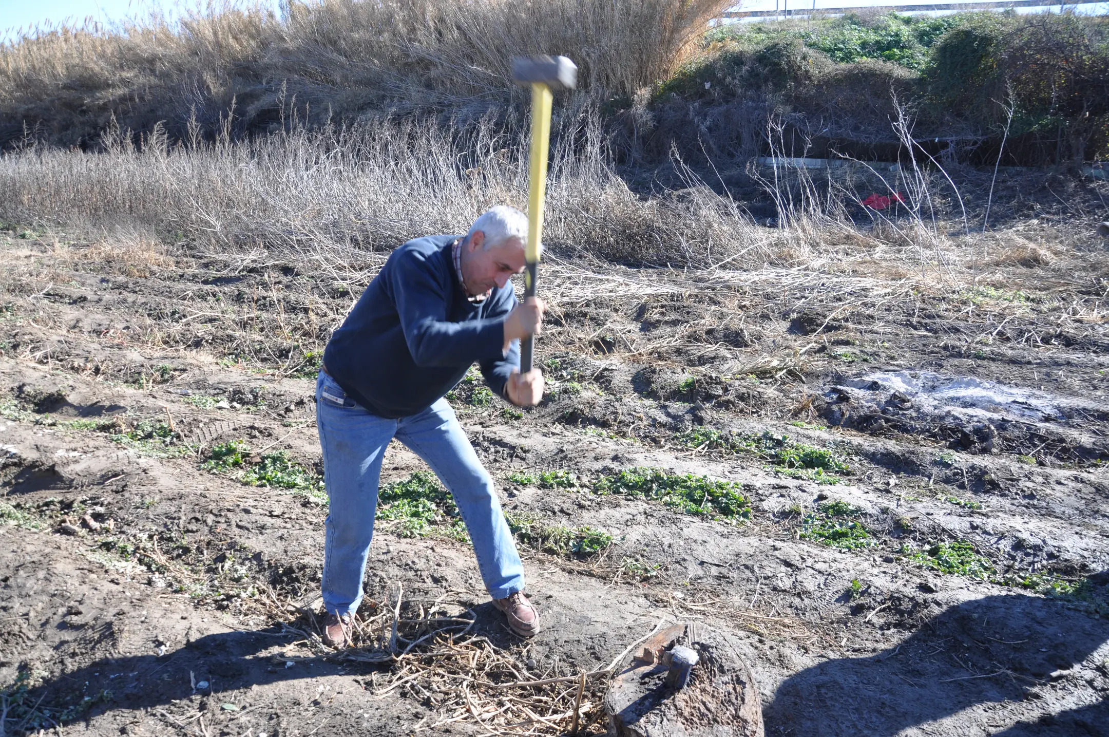
[{"label": "navy blue sweatshirt worn by the grey-haired man", "polygon": [[324,366],[347,395],[381,417],[423,412],[479,362],[505,396],[520,366],[519,341],[505,347],[512,283],[470,302],[458,282],[451,244],[428,235],[394,251],[324,350]]}]

